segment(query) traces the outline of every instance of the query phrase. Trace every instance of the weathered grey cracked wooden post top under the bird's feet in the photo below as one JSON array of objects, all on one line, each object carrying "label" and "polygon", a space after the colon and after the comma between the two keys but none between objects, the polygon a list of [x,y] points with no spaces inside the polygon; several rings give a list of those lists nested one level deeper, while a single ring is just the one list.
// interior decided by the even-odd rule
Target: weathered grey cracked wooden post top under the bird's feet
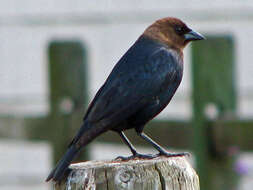
[{"label": "weathered grey cracked wooden post top under the bird's feet", "polygon": [[55,190],[199,190],[199,178],[184,157],[87,161],[70,169]]}]

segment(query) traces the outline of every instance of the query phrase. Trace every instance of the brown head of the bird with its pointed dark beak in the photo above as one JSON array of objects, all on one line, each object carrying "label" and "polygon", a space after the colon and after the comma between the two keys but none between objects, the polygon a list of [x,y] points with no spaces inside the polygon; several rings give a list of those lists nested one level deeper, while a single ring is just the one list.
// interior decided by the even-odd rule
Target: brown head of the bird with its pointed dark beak
[{"label": "brown head of the bird with its pointed dark beak", "polygon": [[144,31],[143,35],[179,50],[183,50],[190,41],[205,39],[180,19],[173,17],[157,20]]}]

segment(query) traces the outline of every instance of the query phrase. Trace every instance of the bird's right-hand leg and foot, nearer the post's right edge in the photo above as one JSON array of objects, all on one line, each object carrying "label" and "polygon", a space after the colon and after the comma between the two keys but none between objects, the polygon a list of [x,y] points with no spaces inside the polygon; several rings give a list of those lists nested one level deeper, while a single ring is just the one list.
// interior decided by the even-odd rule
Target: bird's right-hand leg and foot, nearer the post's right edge
[{"label": "bird's right-hand leg and foot, nearer the post's right edge", "polygon": [[182,153],[170,153],[167,152],[164,148],[162,148],[159,144],[157,144],[155,141],[153,141],[149,136],[147,136],[145,133],[143,132],[137,132],[137,134],[142,137],[145,141],[147,141],[148,143],[150,143],[156,150],[159,151],[158,156],[160,155],[164,155],[167,157],[176,157],[176,156],[185,156],[185,155],[189,155],[188,152],[182,152]]}]

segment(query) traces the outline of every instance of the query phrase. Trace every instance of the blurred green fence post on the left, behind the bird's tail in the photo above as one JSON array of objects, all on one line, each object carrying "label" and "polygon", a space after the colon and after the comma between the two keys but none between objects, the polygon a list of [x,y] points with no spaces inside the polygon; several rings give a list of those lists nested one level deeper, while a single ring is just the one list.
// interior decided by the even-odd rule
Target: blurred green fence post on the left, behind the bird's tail
[{"label": "blurred green fence post on the left, behind the bird's tail", "polygon": [[[80,128],[87,101],[85,50],[80,42],[53,41],[48,49],[50,126],[54,161],[60,159]],[[87,159],[82,154],[82,159]]]}]

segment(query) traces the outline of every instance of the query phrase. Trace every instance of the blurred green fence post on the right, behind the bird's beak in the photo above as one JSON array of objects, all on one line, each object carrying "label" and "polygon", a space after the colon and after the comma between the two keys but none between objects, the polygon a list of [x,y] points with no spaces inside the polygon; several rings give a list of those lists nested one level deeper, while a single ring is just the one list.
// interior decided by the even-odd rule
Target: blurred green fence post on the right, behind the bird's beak
[{"label": "blurred green fence post on the right, behind the bird's beak", "polygon": [[[234,42],[230,36],[207,36],[192,44],[193,129],[201,188],[233,189],[237,176],[229,147],[209,121],[233,119],[236,112]],[[226,134],[231,135],[231,131]]]}]

